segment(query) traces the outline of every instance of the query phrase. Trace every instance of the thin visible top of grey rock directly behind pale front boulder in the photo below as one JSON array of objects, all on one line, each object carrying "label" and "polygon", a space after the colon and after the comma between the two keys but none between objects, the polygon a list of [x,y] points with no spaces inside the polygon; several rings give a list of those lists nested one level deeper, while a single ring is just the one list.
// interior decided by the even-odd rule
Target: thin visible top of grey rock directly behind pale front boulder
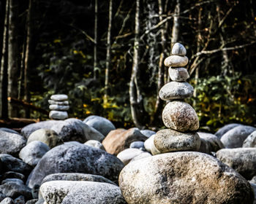
[{"label": "thin visible top of grey rock directly behind pale front boulder", "polygon": [[42,179],[41,185],[48,181],[94,181],[116,185],[113,181],[110,181],[108,178],[89,173],[53,173],[48,176],[45,176],[45,178]]}]

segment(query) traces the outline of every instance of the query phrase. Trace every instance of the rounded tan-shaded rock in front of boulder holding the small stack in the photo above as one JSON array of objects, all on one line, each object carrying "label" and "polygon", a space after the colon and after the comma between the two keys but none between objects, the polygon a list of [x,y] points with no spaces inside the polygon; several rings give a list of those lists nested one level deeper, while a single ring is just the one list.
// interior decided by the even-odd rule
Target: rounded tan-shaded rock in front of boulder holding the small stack
[{"label": "rounded tan-shaded rock in front of boulder holding the small stack", "polygon": [[28,145],[33,141],[41,141],[44,144],[47,144],[50,148],[63,144],[61,137],[59,137],[59,135],[54,130],[49,130],[49,129],[35,130],[29,136],[26,144]]}]

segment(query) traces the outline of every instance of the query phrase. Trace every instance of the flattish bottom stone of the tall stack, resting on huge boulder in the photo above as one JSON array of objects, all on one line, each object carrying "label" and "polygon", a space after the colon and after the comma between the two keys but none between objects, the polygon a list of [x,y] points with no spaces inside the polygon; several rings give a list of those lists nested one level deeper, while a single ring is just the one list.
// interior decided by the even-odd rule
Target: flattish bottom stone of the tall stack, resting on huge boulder
[{"label": "flattish bottom stone of the tall stack, resting on huge boulder", "polygon": [[159,130],[154,137],[159,152],[198,151],[200,138],[197,133],[181,133],[176,130]]}]

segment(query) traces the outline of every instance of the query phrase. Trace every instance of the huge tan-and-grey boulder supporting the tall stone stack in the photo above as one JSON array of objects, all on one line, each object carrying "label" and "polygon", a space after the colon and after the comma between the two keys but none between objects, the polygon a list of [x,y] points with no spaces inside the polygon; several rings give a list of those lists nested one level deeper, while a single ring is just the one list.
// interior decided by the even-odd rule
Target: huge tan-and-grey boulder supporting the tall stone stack
[{"label": "huge tan-and-grey boulder supporting the tall stone stack", "polygon": [[252,203],[249,182],[219,160],[200,152],[159,154],[130,162],[119,187],[129,204]]}]

